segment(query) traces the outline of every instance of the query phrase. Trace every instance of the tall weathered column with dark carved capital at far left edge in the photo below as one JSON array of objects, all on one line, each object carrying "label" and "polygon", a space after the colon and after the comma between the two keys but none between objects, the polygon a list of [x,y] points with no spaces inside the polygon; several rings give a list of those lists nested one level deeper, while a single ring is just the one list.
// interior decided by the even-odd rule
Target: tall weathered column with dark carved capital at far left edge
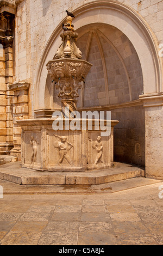
[{"label": "tall weathered column with dark carved capital at far left edge", "polygon": [[16,5],[0,0],[0,154],[10,154],[12,144],[12,44]]}]

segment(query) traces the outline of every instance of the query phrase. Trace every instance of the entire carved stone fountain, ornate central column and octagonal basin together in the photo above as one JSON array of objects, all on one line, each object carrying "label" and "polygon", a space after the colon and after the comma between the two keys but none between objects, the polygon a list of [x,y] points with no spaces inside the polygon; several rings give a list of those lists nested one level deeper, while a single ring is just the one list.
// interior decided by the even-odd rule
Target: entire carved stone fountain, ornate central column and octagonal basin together
[{"label": "entire carved stone fountain, ornate central column and octagonal basin together", "polygon": [[[68,16],[60,34],[62,44],[54,59],[47,63],[47,70],[61,99],[62,118],[41,118],[18,121],[22,127],[22,167],[50,172],[90,172],[112,167],[114,126],[110,121],[109,136],[101,136],[99,120],[92,121],[92,129],[86,123],[83,129],[67,129],[76,119],[77,97],[92,64],[82,59],[76,45],[78,34],[74,32],[72,17]],[[60,121],[62,129],[54,129]],[[85,121],[90,121],[85,119]],[[81,125],[80,125],[81,124]],[[104,125],[107,125],[104,120]]]}]

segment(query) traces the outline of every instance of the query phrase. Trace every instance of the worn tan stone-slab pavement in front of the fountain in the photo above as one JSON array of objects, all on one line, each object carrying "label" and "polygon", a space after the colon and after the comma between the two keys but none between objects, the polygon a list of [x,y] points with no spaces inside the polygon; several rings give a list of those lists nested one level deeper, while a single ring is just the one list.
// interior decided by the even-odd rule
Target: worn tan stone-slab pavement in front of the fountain
[{"label": "worn tan stone-slab pavement in front of the fountain", "polygon": [[133,188],[127,185],[133,179],[105,184],[101,193],[86,187],[73,193],[71,187],[65,193],[55,186],[22,188],[0,180],[0,243],[162,245],[163,181],[148,180],[136,178],[141,186]]}]

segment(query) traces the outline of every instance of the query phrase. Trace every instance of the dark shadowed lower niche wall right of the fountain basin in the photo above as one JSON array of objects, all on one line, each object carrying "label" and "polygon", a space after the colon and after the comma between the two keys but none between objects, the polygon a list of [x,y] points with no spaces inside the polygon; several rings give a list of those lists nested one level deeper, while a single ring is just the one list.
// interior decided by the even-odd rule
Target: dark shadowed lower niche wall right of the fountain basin
[{"label": "dark shadowed lower niche wall right of the fountain basin", "polygon": [[114,159],[145,166],[145,109],[143,106],[111,110],[120,123],[114,130]]}]

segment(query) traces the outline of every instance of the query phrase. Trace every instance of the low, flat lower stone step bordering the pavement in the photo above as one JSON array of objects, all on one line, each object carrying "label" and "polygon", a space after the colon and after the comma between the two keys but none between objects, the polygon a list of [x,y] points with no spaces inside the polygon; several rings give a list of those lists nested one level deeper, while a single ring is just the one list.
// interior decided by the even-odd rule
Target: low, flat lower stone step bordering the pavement
[{"label": "low, flat lower stone step bordering the pavement", "polygon": [[[147,187],[155,184],[159,190],[162,180],[137,177],[127,180],[119,180],[99,185],[20,185],[1,180],[3,194],[111,194],[121,191]],[[71,197],[71,196],[70,196]]]}]

